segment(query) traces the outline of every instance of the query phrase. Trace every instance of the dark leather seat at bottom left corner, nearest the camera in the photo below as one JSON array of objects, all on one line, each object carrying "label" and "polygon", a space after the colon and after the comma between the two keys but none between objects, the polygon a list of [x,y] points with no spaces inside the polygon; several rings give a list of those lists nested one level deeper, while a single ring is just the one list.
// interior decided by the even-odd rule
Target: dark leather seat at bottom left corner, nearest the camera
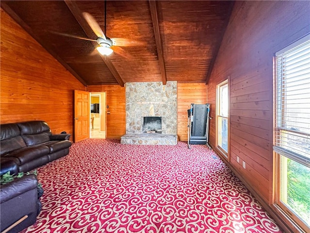
[{"label": "dark leather seat at bottom left corner, nearest the camera", "polygon": [[18,233],[35,223],[40,204],[37,184],[36,176],[31,174],[1,185],[1,232],[12,227],[8,233]]}]

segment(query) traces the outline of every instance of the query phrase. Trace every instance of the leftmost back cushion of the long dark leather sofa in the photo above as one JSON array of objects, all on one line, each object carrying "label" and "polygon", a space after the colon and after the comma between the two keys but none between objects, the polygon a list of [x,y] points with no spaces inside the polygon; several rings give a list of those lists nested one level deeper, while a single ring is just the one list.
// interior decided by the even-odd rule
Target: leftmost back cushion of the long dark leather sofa
[{"label": "leftmost back cushion of the long dark leather sofa", "polygon": [[26,147],[23,138],[20,136],[20,130],[17,124],[2,124],[0,132],[0,154]]}]

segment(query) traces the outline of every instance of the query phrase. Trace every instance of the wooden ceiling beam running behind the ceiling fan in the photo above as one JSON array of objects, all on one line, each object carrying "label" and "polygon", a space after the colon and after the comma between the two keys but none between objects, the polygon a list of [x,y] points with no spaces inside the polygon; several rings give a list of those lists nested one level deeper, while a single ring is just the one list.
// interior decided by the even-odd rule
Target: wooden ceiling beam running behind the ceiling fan
[{"label": "wooden ceiling beam running behind the ceiling fan", "polygon": [[[82,17],[82,14],[81,14],[78,6],[77,6],[77,3],[72,1],[72,0],[64,0],[64,2],[68,6],[68,8],[71,11],[72,15],[77,19],[78,24],[81,26],[81,28],[86,33],[86,35],[89,38],[96,38],[97,37],[96,34],[93,32],[93,30],[91,29],[91,27],[89,26],[89,24],[87,23],[85,18]],[[92,43],[93,43],[93,47],[94,48],[98,47],[98,43],[97,42],[92,41]],[[99,53],[99,55],[102,58],[102,61],[109,68],[111,74],[114,76],[116,81],[120,84],[120,86],[124,87],[124,81],[123,81],[122,77],[120,76],[120,74],[117,72],[116,68],[113,66],[113,64],[110,61],[110,59],[108,57],[104,56],[104,55],[101,55],[100,53]]]}]

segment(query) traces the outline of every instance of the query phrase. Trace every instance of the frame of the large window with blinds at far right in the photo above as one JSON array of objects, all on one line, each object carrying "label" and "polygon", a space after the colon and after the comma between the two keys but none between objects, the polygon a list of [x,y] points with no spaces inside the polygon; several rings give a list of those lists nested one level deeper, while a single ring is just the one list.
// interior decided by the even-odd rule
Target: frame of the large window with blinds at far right
[{"label": "frame of the large window with blinds at far right", "polygon": [[[289,133],[296,133],[296,131],[294,130],[290,130],[287,128],[281,128],[278,127],[278,123],[277,120],[279,121],[283,121],[283,117],[285,115],[285,108],[279,108],[279,105],[285,105],[285,103],[283,103],[283,101],[286,101],[284,99],[282,100],[278,100],[277,96],[278,96],[278,75],[277,75],[277,57],[279,55],[282,55],[283,53],[292,50],[298,46],[300,46],[301,44],[303,44],[304,42],[310,40],[310,34],[306,35],[305,37],[301,38],[300,40],[295,41],[293,44],[287,46],[286,48],[279,50],[275,56],[274,56],[274,130],[273,130],[273,153],[274,153],[274,164],[275,164],[275,175],[274,175],[274,179],[275,179],[275,188],[274,188],[274,202],[275,205],[279,207],[279,209],[282,211],[282,213],[284,213],[284,215],[286,217],[288,217],[289,219],[293,220],[298,226],[299,228],[301,228],[303,231],[308,232],[310,231],[310,227],[309,225],[304,222],[304,220],[302,220],[297,214],[294,213],[294,210],[291,209],[288,205],[286,205],[281,199],[282,199],[282,192],[283,192],[283,188],[285,188],[285,186],[287,187],[287,177],[282,177],[281,172],[283,172],[283,169],[287,169],[287,166],[285,166],[285,163],[287,163],[287,159],[291,159],[296,163],[302,164],[306,167],[310,167],[309,166],[309,161],[310,159],[298,154],[294,151],[290,151],[290,150],[286,150],[284,148],[281,148],[280,146],[276,146],[276,140],[277,140],[277,135],[281,132],[289,132]],[[282,64],[282,63],[281,63]],[[285,85],[286,83],[282,83],[281,85]],[[283,87],[283,86],[282,86]],[[286,91],[285,91],[286,92]],[[286,94],[286,93],[285,93]],[[281,95],[281,98],[283,96]],[[281,111],[278,111],[279,109],[281,109]],[[303,132],[297,132],[297,134],[307,134],[307,133],[303,133]],[[285,171],[284,171],[285,172]],[[283,180],[284,179],[284,180]],[[285,182],[286,181],[286,182]],[[285,182],[285,184],[284,184]],[[284,191],[287,192],[287,189]]]}]

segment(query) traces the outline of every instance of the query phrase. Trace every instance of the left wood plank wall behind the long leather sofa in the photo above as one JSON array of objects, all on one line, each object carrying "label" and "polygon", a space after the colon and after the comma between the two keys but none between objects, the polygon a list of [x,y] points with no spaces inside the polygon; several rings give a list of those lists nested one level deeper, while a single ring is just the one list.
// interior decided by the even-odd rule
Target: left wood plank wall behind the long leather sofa
[{"label": "left wood plank wall behind the long leather sofa", "polygon": [[74,89],[86,87],[1,9],[0,123],[45,120],[73,133]]}]

